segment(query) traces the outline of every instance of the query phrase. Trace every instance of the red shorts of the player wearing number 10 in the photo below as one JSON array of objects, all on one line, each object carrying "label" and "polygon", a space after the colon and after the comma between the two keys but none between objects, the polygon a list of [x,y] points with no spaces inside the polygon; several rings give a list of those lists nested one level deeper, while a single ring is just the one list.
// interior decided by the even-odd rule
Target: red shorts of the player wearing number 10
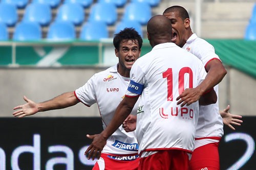
[{"label": "red shorts of the player wearing number 10", "polygon": [[182,150],[164,150],[140,158],[139,170],[187,170],[188,153]]}]

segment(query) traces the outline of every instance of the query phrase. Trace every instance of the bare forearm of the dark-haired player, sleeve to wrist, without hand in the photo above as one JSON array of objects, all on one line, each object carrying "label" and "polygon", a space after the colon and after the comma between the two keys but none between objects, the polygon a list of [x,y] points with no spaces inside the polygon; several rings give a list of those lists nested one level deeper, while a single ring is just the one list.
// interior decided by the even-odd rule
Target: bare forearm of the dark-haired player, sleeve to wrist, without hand
[{"label": "bare forearm of the dark-haired player, sleeve to wrist, without hand", "polygon": [[63,109],[70,106],[74,106],[79,101],[76,99],[74,92],[66,92],[56,96],[55,98],[41,102],[37,104],[37,108],[39,112],[48,111],[48,110],[55,110],[55,109]]}]

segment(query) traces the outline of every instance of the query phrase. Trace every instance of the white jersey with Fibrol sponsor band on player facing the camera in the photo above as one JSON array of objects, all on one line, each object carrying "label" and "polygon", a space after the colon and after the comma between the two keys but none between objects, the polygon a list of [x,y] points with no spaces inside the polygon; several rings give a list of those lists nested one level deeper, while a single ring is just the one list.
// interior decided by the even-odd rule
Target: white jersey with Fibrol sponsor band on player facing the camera
[{"label": "white jersey with Fibrol sponsor band on player facing the camera", "polygon": [[[95,74],[86,84],[75,90],[75,95],[86,106],[98,104],[102,126],[105,129],[110,124],[117,106],[124,98],[129,82],[130,78],[118,74],[117,65],[115,65]],[[132,114],[137,113],[137,108],[138,104],[135,105]],[[138,153],[136,133],[127,133],[120,126],[108,138],[102,153],[113,155]]]}]

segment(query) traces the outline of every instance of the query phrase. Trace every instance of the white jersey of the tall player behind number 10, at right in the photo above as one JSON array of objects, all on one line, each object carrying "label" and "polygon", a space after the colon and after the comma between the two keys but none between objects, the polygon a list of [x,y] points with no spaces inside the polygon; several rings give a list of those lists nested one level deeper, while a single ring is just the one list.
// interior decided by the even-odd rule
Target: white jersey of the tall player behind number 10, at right
[{"label": "white jersey of the tall player behind number 10, at right", "polygon": [[[199,38],[196,34],[191,35],[182,48],[197,56],[205,67],[211,60],[220,60],[219,56],[215,54],[214,46]],[[218,96],[218,85],[214,89]],[[223,133],[223,122],[219,114],[218,101],[216,104],[199,106],[196,138],[222,137]]]}]

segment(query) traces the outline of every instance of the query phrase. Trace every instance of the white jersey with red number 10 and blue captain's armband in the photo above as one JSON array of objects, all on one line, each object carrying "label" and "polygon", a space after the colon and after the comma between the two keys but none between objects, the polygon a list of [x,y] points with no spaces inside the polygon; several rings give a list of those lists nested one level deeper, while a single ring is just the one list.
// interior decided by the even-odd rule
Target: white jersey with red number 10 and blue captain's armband
[{"label": "white jersey with red number 10 and blue captain's armband", "polygon": [[181,108],[176,98],[204,80],[202,62],[174,43],[163,43],[136,60],[130,76],[126,96],[141,94],[136,127],[139,153],[193,151],[199,104]]}]

